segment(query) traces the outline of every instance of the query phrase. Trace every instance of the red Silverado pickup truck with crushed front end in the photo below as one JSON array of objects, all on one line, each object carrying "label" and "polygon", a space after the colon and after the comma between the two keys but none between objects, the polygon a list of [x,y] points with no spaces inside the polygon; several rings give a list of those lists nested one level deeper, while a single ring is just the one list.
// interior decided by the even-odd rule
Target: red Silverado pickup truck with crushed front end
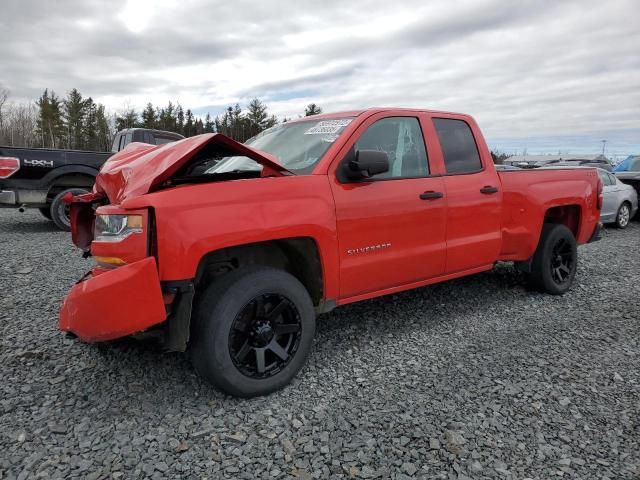
[{"label": "red Silverado pickup truck with crushed front end", "polygon": [[94,268],[60,328],[154,335],[239,396],[288,383],[316,315],[513,261],[551,294],[599,236],[591,169],[496,172],[468,115],[370,109],[287,122],[240,144],[132,144],[67,198]]}]

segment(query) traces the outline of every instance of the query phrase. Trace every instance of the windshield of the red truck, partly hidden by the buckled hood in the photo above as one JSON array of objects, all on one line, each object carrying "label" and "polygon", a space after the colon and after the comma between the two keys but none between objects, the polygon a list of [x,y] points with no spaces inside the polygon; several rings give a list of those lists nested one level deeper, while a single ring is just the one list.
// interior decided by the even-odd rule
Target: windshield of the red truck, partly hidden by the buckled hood
[{"label": "windshield of the red truck, partly hidden by the buckled hood", "polygon": [[[245,142],[253,148],[270,153],[287,170],[308,173],[335,142],[352,118],[310,120],[282,123],[269,128]],[[257,171],[262,166],[248,157],[224,157],[206,174],[233,171]]]}]

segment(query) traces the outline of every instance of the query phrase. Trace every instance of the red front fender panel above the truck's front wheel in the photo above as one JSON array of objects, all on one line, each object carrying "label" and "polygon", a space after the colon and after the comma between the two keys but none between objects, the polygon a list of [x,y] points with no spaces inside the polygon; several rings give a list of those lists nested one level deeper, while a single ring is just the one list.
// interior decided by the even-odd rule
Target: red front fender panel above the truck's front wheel
[{"label": "red front fender panel above the truck's front wheel", "polygon": [[[239,188],[239,183],[245,188]],[[136,197],[122,206],[153,206],[163,281],[194,278],[202,257],[215,250],[309,237],[320,254],[324,296],[338,296],[335,208],[326,176],[189,185]]]}]

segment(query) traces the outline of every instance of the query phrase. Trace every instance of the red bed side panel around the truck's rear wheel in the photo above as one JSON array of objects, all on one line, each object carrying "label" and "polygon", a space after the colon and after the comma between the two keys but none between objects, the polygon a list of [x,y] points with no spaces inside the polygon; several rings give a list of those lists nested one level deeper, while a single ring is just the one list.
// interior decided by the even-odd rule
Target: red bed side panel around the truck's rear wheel
[{"label": "red bed side panel around the truck's rear wheel", "polygon": [[581,212],[577,241],[589,241],[599,220],[595,169],[523,170],[498,173],[503,189],[500,260],[527,260],[540,239],[545,213],[577,205]]}]

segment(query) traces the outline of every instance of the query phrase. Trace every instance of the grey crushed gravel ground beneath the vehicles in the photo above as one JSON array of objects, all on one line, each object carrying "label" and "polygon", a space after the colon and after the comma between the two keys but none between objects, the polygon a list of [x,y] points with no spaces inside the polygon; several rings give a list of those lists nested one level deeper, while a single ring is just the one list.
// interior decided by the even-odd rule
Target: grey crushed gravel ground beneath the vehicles
[{"label": "grey crushed gravel ground beneath the vehicles", "polygon": [[509,265],[323,316],[266,398],[181,354],[57,331],[90,265],[0,211],[0,478],[638,478],[640,225],[580,248],[564,297]]}]

